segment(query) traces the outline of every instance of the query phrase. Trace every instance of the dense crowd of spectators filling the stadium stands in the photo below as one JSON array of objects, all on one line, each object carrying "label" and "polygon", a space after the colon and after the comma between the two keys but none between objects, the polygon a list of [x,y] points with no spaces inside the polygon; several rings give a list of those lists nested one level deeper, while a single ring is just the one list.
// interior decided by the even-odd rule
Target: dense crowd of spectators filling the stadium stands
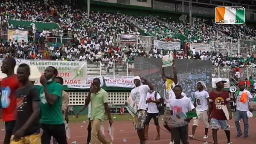
[{"label": "dense crowd of spectators filling the stadium stands", "polygon": [[[17,6],[18,5],[18,6]],[[17,6],[17,7],[16,7]],[[1,40],[0,57],[12,56],[15,58],[41,59],[41,53],[38,48],[44,49],[44,57],[52,60],[88,60],[104,62],[132,62],[134,57],[154,57],[162,58],[168,55],[170,51],[163,49],[151,49],[148,53],[143,48],[119,48],[117,44],[118,34],[140,35],[139,29],[131,23],[136,21],[144,28],[144,32],[156,34],[170,33],[176,29],[181,35],[185,35],[189,41],[194,43],[209,43],[210,40],[224,40],[223,35],[217,37],[213,34],[216,30],[223,32],[228,36],[228,41],[236,42],[237,38],[256,40],[256,32],[252,27],[245,24],[239,26],[212,24],[212,28],[205,27],[201,23],[190,26],[189,23],[174,21],[166,18],[153,18],[141,16],[128,16],[121,13],[90,12],[87,16],[85,11],[76,9],[65,3],[44,3],[44,1],[6,1],[1,3],[1,15],[4,20],[2,28],[27,30],[28,35],[35,35],[33,44],[32,39],[29,42],[18,43],[8,40],[4,43]],[[41,33],[36,27],[26,27],[7,25],[7,19],[15,20],[37,20],[45,22],[56,22],[61,29],[44,29]],[[168,27],[169,26],[169,27]],[[47,37],[64,37],[70,40],[64,40],[61,46],[55,43],[55,40],[46,39]],[[227,38],[227,37],[226,37]],[[167,36],[158,35],[159,40],[180,41],[180,39],[170,39]],[[241,58],[239,54],[222,54],[215,52],[197,52],[193,50],[186,52],[181,49],[174,51],[175,58],[180,59],[202,59],[212,60],[215,66],[238,66],[255,67],[256,60],[253,55],[248,55],[247,59]]]}]

